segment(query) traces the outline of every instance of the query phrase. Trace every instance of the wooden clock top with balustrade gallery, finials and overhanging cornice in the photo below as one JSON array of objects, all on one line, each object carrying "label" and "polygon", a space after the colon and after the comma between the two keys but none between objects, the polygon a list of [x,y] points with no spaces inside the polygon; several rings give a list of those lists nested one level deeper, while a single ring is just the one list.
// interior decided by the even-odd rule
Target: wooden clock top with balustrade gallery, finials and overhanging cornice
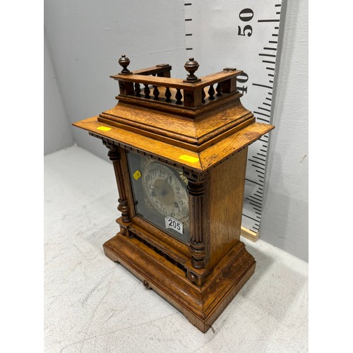
[{"label": "wooden clock top with balustrade gallery, finials and overhanging cornice", "polygon": [[130,60],[121,56],[122,71],[111,76],[119,82],[116,107],[73,125],[198,172],[274,128],[255,123],[241,104],[237,91],[241,70],[225,68],[198,78],[199,64],[190,58],[185,64],[189,75],[183,80],[170,77],[169,64],[137,71],[129,71],[128,64]]}]

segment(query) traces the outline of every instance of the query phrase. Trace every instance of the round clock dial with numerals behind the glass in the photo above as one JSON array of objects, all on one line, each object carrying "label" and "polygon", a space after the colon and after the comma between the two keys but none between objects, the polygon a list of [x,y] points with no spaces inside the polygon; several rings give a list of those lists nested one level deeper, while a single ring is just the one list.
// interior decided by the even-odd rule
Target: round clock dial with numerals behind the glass
[{"label": "round clock dial with numerals behind the glass", "polygon": [[150,162],[143,173],[143,189],[151,205],[164,216],[177,220],[189,217],[186,185],[173,169],[160,162]]}]

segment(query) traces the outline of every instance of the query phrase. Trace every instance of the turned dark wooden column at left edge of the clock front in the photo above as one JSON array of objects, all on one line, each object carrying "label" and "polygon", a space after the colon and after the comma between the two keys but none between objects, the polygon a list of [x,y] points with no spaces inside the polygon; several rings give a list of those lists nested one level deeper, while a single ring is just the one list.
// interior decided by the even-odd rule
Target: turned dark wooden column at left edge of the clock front
[{"label": "turned dark wooden column at left edge of the clock front", "polygon": [[123,167],[121,165],[121,155],[119,147],[110,143],[104,143],[104,145],[106,145],[106,147],[109,149],[109,160],[113,162],[116,184],[118,186],[119,191],[118,210],[121,212],[123,222],[130,222],[130,207],[128,205],[127,194],[123,183]]}]

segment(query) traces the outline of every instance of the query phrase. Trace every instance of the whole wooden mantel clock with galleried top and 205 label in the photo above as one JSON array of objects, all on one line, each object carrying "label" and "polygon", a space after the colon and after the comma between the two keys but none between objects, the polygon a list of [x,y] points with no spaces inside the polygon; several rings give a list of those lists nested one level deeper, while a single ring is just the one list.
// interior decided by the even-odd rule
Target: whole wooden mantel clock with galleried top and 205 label
[{"label": "whole wooden mantel clock with galleried top and 205 label", "polygon": [[104,253],[205,333],[255,269],[239,241],[246,154],[274,126],[241,105],[235,68],[197,78],[191,58],[183,80],[119,64],[116,107],[73,124],[114,166],[120,230]]}]

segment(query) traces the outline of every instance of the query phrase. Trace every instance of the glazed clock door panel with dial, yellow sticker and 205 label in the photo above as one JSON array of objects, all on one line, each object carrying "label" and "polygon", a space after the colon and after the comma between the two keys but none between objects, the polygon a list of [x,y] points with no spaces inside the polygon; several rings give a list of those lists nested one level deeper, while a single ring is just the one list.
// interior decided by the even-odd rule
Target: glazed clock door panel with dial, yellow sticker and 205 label
[{"label": "glazed clock door panel with dial, yellow sticker and 205 label", "polygon": [[136,213],[189,244],[189,194],[182,169],[128,152]]}]

